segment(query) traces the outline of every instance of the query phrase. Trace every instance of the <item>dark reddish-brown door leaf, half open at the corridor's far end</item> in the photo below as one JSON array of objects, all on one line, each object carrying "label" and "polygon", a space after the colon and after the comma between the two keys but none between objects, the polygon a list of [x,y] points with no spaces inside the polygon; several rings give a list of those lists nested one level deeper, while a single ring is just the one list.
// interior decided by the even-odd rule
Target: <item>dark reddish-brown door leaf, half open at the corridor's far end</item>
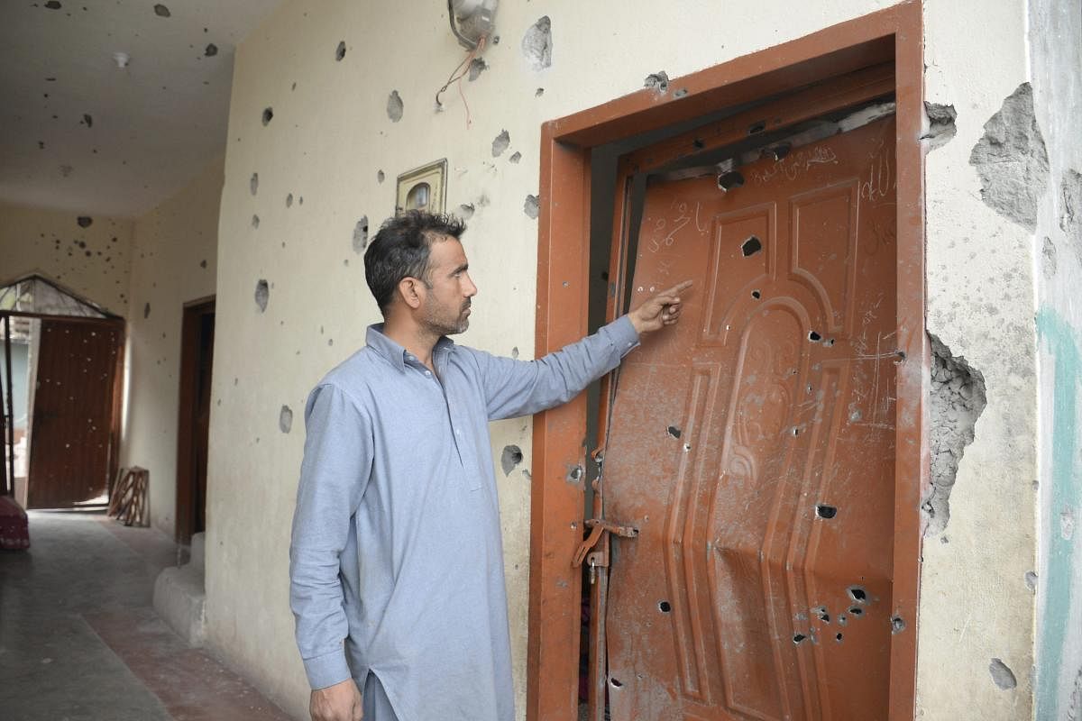
[{"label": "dark reddish-brown door leaf, half open at the corridor's far end", "polygon": [[41,321],[27,506],[69,508],[105,494],[120,330]]}]

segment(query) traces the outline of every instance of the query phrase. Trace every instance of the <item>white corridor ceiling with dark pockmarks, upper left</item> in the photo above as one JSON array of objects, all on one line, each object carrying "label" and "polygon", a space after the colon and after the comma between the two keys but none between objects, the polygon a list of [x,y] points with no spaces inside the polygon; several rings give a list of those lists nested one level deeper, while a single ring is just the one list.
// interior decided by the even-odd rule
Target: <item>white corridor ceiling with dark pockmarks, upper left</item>
[{"label": "white corridor ceiling with dark pockmarks, upper left", "polygon": [[0,0],[0,201],[134,217],[184,187],[224,151],[234,49],[279,1]]}]

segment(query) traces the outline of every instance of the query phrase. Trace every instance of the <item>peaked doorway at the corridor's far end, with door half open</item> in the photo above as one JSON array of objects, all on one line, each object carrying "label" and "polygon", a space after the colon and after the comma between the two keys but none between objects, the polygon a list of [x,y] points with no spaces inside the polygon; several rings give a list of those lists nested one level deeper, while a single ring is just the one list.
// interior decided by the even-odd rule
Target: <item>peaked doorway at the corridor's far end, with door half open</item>
[{"label": "peaked doorway at the corridor's far end, with door half open", "polygon": [[119,464],[123,319],[41,276],[0,288],[4,464],[28,509],[104,508]]}]

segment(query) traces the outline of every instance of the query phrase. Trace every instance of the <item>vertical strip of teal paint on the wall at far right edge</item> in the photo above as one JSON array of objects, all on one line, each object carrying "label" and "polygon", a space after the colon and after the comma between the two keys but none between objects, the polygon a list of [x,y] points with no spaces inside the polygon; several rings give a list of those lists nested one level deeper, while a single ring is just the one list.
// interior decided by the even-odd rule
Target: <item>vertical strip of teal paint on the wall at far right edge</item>
[{"label": "vertical strip of teal paint on the wall at far right edge", "polygon": [[[1064,538],[1060,513],[1066,507],[1082,511],[1082,473],[1074,467],[1078,450],[1079,382],[1082,378],[1082,355],[1074,329],[1058,312],[1041,308],[1037,315],[1037,332],[1041,344],[1053,357],[1052,410],[1052,506],[1051,518],[1043,530],[1048,549],[1048,565],[1044,570],[1046,596],[1044,623],[1037,649],[1038,719],[1058,719],[1059,678],[1064,653],[1071,628],[1071,578],[1074,573],[1074,543]],[[1082,599],[1078,599],[1082,603]],[[1077,623],[1077,620],[1076,620]],[[1073,670],[1073,669],[1072,669]]]}]

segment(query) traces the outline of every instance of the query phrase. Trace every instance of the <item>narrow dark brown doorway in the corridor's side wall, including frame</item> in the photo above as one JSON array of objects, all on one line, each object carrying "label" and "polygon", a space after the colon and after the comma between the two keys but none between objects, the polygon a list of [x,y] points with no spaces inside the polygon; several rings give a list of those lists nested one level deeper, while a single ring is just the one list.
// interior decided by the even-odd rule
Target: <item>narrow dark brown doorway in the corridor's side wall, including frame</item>
[{"label": "narrow dark brown doorway in the corridor's side wall, including frame", "polygon": [[214,361],[214,299],[185,304],[181,329],[180,422],[176,441],[176,542],[207,528],[207,448]]}]

